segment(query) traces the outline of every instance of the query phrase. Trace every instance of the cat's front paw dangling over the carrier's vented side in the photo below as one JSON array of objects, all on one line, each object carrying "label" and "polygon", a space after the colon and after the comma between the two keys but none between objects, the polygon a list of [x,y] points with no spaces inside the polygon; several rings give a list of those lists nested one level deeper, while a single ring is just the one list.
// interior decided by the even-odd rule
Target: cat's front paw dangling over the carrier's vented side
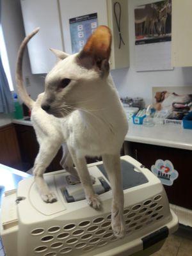
[{"label": "cat's front paw dangling over the carrier's vented side", "polygon": [[116,237],[122,238],[125,236],[125,221],[123,214],[116,210],[111,216],[111,226]]}]

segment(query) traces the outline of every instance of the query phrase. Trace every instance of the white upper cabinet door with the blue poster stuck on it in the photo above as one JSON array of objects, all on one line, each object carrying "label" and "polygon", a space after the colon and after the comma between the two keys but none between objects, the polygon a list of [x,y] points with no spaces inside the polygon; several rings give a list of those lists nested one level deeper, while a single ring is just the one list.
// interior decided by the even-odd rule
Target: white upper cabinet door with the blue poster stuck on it
[{"label": "white upper cabinet door with the blue poster stuck on it", "polygon": [[[97,13],[98,25],[108,25],[106,0],[60,0],[65,51],[72,53],[69,19]],[[82,38],[83,40],[83,38]]]}]

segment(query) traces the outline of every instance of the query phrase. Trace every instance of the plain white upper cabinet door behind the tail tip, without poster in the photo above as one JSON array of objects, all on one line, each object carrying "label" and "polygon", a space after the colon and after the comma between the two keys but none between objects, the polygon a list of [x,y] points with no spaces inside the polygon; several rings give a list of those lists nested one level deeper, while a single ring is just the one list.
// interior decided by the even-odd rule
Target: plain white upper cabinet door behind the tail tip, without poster
[{"label": "plain white upper cabinet door behind the tail tip, without poster", "polygon": [[44,74],[51,70],[56,58],[49,48],[63,50],[60,13],[57,0],[20,0],[26,35],[40,27],[28,44],[31,71]]}]

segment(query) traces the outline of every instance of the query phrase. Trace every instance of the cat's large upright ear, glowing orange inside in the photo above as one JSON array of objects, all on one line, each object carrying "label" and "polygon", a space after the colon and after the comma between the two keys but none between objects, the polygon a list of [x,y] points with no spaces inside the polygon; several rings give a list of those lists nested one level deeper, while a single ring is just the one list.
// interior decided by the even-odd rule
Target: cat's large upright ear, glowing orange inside
[{"label": "cat's large upright ear, glowing orange inside", "polygon": [[103,77],[109,73],[110,53],[111,31],[107,26],[99,26],[77,55],[77,63],[88,69],[96,67]]}]

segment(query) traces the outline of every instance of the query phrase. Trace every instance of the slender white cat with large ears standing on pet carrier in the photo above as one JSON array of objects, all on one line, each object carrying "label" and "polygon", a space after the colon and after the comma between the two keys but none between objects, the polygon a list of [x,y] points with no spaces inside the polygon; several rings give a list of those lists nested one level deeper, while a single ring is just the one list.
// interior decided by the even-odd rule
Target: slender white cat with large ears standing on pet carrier
[{"label": "slender white cat with large ears standing on pet carrier", "polygon": [[58,63],[45,78],[45,92],[34,102],[22,82],[22,57],[26,44],[37,32],[38,29],[33,31],[20,45],[17,86],[21,99],[31,108],[31,121],[40,144],[33,170],[40,195],[45,202],[56,200],[43,174],[63,145],[61,165],[76,177],[79,175],[88,204],[99,209],[101,202],[93,191],[85,156],[102,156],[113,193],[111,225],[115,236],[122,237],[120,148],[128,125],[109,75],[111,32],[108,27],[99,26],[77,54],[51,49]]}]

